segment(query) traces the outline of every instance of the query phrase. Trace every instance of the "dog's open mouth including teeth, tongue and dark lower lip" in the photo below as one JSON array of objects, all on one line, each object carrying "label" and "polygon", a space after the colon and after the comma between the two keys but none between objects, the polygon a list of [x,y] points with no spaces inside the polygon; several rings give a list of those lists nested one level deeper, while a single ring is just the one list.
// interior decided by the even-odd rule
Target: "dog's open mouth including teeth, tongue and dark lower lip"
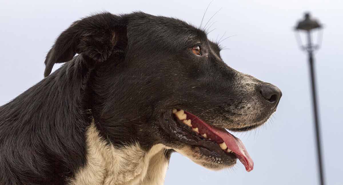
[{"label": "dog's open mouth including teeth, tongue and dark lower lip", "polygon": [[[216,128],[205,123],[199,117],[187,111],[173,109],[172,113],[174,120],[179,123],[178,126],[191,133],[185,133],[188,134],[188,137],[180,136],[180,130],[175,131],[174,128],[173,132],[179,135],[179,140],[186,144],[205,148],[206,151],[209,150],[212,154],[214,152],[224,158],[238,158],[248,172],[253,169],[253,161],[240,139],[225,129]],[[168,130],[172,131],[171,129]],[[193,136],[190,137],[189,135]]]}]

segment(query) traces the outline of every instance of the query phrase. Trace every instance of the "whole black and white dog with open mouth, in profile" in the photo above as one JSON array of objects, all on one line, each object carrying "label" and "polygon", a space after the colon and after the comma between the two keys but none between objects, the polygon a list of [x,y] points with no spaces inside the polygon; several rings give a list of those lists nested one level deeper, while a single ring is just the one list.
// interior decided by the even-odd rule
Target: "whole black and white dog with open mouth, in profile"
[{"label": "whole black and white dog with open mouth, in profile", "polygon": [[45,78],[0,107],[0,184],[163,184],[173,152],[251,171],[227,130],[261,126],[282,92],[230,68],[220,51],[175,18],[77,20],[48,52]]}]

